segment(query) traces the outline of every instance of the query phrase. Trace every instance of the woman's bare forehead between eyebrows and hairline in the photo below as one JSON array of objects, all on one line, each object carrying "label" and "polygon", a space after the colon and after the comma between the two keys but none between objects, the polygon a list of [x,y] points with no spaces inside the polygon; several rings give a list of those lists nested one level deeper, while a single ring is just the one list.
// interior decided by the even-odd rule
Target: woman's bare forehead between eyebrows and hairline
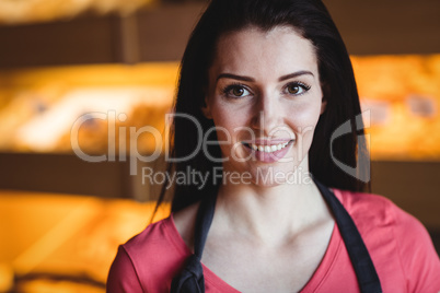
[{"label": "woman's bare forehead between eyebrows and hairline", "polygon": [[239,74],[288,74],[298,70],[317,73],[315,49],[294,28],[270,31],[247,27],[220,37],[211,71]]}]

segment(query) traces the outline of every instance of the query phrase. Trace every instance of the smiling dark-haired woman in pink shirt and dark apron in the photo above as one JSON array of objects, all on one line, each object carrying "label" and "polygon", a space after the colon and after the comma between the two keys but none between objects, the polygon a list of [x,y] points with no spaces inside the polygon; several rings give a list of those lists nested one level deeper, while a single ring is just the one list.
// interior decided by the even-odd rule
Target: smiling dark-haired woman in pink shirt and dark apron
[{"label": "smiling dark-haired woman in pink shirt and dark apron", "polygon": [[177,184],[171,216],[119,248],[108,292],[440,290],[421,224],[335,164],[356,166],[366,149],[350,60],[321,1],[212,0],[175,110],[169,171],[207,179]]}]

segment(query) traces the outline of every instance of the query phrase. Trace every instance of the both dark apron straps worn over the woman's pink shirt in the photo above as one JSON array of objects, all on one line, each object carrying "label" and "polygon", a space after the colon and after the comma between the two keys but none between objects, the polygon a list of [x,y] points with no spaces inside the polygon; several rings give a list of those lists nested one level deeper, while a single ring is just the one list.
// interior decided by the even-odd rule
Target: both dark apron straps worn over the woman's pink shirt
[{"label": "both dark apron straps worn over the woman's pink shirt", "polygon": [[[381,283],[375,272],[370,254],[355,225],[351,216],[336,196],[327,187],[314,180],[324,200],[329,206],[344,239],[351,265],[355,269],[359,289],[362,293],[381,293]],[[171,283],[172,293],[205,293],[204,270],[201,255],[205,248],[209,227],[212,223],[217,195],[204,198],[197,212],[194,237],[194,254],[188,257],[180,274]]]}]

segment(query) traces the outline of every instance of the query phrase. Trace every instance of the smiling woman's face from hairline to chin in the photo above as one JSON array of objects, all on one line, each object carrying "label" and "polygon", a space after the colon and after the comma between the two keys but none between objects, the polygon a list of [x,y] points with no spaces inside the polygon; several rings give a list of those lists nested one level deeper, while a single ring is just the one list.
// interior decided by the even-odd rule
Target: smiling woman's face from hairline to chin
[{"label": "smiling woman's face from hairline to chin", "polygon": [[224,172],[250,173],[254,183],[266,176],[265,185],[298,166],[308,172],[324,107],[314,48],[293,28],[250,27],[219,39],[202,110],[217,127]]}]

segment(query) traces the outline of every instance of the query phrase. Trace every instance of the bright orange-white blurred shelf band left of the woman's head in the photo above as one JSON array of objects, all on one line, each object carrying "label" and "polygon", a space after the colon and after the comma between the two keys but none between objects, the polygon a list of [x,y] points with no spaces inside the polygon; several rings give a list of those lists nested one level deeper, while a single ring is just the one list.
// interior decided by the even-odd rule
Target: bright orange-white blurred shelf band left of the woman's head
[{"label": "bright orange-white blurred shelf band left of the woman's head", "polygon": [[[79,148],[100,154],[113,142],[116,152],[126,153],[130,127],[164,131],[177,72],[177,62],[0,72],[0,149],[71,152],[74,121],[94,113],[93,119],[78,124]],[[109,110],[115,112],[113,120]],[[148,133],[136,141],[141,153],[164,144]]]}]

